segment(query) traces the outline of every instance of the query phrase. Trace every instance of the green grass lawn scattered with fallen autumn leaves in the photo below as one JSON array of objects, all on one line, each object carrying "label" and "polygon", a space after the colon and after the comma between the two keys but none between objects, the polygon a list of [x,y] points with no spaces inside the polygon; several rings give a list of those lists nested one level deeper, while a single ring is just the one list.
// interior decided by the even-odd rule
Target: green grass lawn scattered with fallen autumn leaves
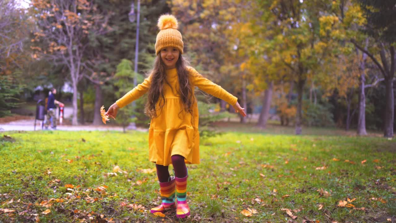
[{"label": "green grass lawn scattered with fallen autumn leaves", "polygon": [[[191,217],[178,220],[148,211],[160,199],[155,171],[142,171],[155,167],[147,133],[5,134],[1,223],[396,221],[396,142],[381,137],[234,132],[202,140],[201,163],[188,165]],[[115,166],[125,172],[111,174]],[[348,198],[364,210],[338,206]],[[247,208],[257,213],[245,217]]]}]

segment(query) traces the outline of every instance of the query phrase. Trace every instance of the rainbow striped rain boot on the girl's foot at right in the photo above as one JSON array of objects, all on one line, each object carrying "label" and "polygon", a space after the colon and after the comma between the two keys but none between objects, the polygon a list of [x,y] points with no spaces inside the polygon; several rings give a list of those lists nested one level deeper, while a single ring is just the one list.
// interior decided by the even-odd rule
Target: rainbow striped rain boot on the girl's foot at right
[{"label": "rainbow striped rain boot on the girl's foot at right", "polygon": [[187,177],[176,179],[176,197],[177,197],[177,208],[176,217],[185,218],[190,215],[190,208],[187,204]]}]

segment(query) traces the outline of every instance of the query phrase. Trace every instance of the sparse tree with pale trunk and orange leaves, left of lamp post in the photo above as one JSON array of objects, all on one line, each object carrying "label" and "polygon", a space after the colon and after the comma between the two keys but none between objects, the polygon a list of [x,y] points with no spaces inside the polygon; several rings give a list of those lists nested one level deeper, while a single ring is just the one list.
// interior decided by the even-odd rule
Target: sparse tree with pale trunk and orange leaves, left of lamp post
[{"label": "sparse tree with pale trunk and orange leaves, left of lamp post", "polygon": [[32,42],[45,46],[36,46],[37,54],[56,65],[68,67],[73,88],[72,124],[77,125],[77,85],[84,76],[84,66],[89,65],[84,54],[88,39],[90,35],[109,30],[109,17],[95,13],[96,6],[86,0],[33,0],[32,5],[38,27]]}]

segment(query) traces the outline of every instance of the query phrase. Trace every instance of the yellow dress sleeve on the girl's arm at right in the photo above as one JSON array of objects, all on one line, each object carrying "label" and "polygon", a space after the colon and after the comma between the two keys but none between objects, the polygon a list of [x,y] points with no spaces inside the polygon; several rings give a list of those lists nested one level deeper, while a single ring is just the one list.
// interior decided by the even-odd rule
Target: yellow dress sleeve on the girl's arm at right
[{"label": "yellow dress sleeve on the girl's arm at right", "polygon": [[194,68],[188,67],[188,70],[190,71],[190,81],[192,85],[200,88],[208,94],[225,100],[231,105],[236,104],[238,98],[228,93],[227,90],[224,90],[221,86],[209,81],[208,79],[200,75]]}]

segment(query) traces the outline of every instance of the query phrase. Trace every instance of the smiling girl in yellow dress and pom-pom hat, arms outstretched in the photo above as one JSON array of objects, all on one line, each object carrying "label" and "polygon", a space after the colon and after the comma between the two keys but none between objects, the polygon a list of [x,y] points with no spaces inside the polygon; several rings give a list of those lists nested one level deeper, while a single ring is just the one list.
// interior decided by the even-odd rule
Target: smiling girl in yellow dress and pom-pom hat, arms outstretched
[{"label": "smiling girl in yellow dress and pom-pom hat, arms outstretched", "polygon": [[[151,118],[148,130],[149,160],[156,164],[162,204],[151,213],[175,208],[176,217],[190,215],[187,194],[187,168],[185,163],[200,163],[198,107],[194,87],[230,103],[235,112],[246,116],[237,98],[226,90],[202,77],[188,67],[181,56],[183,39],[177,30],[173,15],[158,19],[160,32],[155,43],[154,68],[143,81],[117,100],[106,115],[116,117],[119,108],[126,106],[148,92],[145,113]],[[170,177],[168,166],[173,165],[175,177]]]}]

